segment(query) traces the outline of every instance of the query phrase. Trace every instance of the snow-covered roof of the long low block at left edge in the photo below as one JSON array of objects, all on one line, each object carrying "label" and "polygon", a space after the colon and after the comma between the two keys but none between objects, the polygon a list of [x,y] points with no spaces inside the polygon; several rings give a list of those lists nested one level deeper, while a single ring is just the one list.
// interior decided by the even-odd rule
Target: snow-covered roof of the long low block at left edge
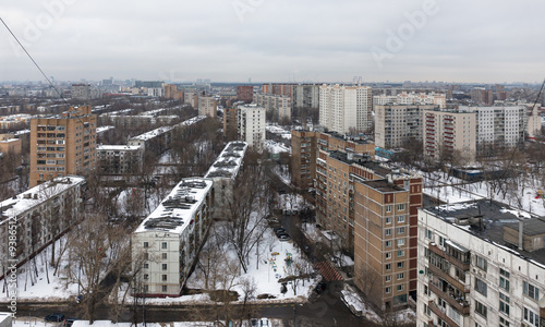
[{"label": "snow-covered roof of the long low block at left edge", "polygon": [[0,202],[0,217],[2,219],[0,225],[8,221],[5,218],[16,217],[32,207],[40,205],[48,198],[57,196],[65,190],[84,182],[85,179],[77,175],[56,178],[52,181],[39,184],[20,193],[12,198]]}]

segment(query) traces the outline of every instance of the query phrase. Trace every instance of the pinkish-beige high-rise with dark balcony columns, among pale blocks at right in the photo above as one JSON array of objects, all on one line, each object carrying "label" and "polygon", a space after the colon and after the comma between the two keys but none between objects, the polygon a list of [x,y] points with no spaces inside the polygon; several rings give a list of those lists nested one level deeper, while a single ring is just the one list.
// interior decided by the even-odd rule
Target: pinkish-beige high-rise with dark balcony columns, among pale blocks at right
[{"label": "pinkish-beige high-rise with dark balcony columns, among pale blocks at right", "polygon": [[425,110],[423,121],[424,156],[432,160],[456,156],[467,162],[475,159],[476,113],[458,110]]}]

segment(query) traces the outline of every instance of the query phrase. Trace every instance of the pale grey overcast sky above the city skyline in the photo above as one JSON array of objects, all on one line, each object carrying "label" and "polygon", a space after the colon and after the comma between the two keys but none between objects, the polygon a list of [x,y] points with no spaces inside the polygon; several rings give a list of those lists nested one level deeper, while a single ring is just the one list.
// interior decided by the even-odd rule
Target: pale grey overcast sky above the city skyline
[{"label": "pale grey overcast sky above the city skyline", "polygon": [[[56,80],[541,82],[545,1],[16,0]],[[0,25],[0,81],[44,80]]]}]

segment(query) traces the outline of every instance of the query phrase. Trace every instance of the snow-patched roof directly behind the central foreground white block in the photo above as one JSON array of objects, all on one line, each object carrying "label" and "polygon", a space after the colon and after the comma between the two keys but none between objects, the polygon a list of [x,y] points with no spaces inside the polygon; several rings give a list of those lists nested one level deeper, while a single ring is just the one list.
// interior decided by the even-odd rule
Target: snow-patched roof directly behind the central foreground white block
[{"label": "snow-patched roof directly behind the central foreground white block", "polygon": [[210,169],[205,174],[205,178],[226,178],[234,179],[239,173],[242,160],[246,153],[247,143],[242,141],[229,142]]}]

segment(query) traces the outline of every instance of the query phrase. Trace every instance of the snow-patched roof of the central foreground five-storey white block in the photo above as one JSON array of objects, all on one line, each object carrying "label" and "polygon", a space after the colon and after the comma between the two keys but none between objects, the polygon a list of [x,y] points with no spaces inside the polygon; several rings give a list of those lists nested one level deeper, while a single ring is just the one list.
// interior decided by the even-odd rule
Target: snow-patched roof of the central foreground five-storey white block
[{"label": "snow-patched roof of the central foreground five-storey white block", "polygon": [[161,204],[142,221],[135,233],[149,231],[182,233],[194,222],[194,214],[205,201],[213,181],[209,179],[183,179]]}]

